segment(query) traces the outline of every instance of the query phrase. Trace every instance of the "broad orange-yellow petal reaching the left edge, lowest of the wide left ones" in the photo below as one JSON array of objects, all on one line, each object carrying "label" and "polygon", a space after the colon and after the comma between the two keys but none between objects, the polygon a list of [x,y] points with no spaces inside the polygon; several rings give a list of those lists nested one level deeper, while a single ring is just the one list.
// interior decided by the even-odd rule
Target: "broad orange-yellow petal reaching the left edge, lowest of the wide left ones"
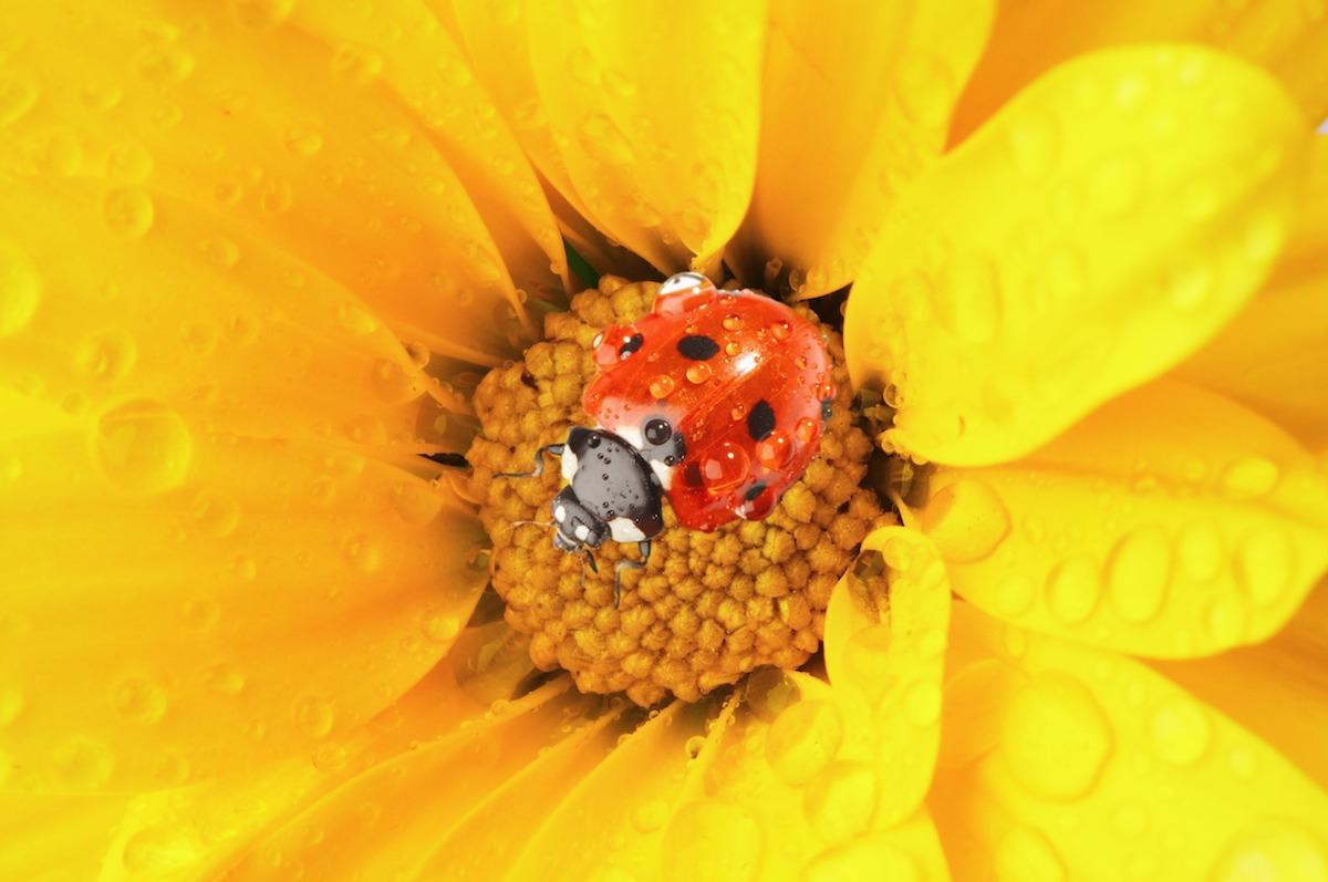
[{"label": "broad orange-yellow petal reaching the left edge, lowest of the wide left ones", "polygon": [[5,396],[9,786],[139,790],[312,752],[446,652],[487,580],[442,486],[133,398]]}]

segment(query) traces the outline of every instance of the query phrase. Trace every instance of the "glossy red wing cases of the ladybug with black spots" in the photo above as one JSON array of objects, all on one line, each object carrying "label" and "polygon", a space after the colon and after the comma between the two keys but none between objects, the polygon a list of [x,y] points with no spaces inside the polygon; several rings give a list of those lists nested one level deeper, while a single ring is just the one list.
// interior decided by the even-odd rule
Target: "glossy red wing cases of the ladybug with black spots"
[{"label": "glossy red wing cases of the ladybug with black spots", "polygon": [[709,284],[606,328],[595,361],[582,404],[600,426],[640,437],[663,417],[683,433],[668,498],[693,530],[770,514],[815,456],[834,397],[811,323],[778,300]]}]

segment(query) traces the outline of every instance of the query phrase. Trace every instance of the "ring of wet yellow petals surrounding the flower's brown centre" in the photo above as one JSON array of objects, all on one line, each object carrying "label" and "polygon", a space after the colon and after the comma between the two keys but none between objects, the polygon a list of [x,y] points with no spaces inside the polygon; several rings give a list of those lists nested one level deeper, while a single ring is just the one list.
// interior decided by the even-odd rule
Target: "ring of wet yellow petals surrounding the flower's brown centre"
[{"label": "ring of wet yellow petals surrounding the flower's brown centre", "polygon": [[[0,13],[0,878],[1328,874],[1328,19],[829,5]],[[823,667],[510,639],[418,454],[564,238],[853,283]]]}]

